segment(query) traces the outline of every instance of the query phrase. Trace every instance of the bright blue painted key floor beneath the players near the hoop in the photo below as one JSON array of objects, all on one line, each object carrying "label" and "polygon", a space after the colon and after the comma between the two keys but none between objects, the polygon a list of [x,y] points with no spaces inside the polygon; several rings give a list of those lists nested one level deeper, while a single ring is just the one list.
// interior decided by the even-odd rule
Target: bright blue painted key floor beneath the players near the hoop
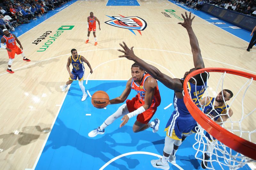
[{"label": "bright blue painted key floor beneath the players near the hoop", "polygon": [[[89,80],[85,87],[91,94],[98,90],[106,91],[112,99],[123,92],[126,82]],[[164,107],[173,101],[173,91],[160,82],[158,86],[162,102],[151,119],[161,120],[160,130],[157,133],[153,133],[151,128],[133,133],[135,117],[131,118],[124,127],[119,128],[121,118],[118,118],[105,129],[104,135],[90,138],[88,133],[100,126],[122,104],[109,105],[107,109],[97,109],[92,106],[89,96],[82,102],[81,89],[78,82],[74,81],[45,144],[36,170],[98,170],[109,160],[128,152],[143,151],[162,155],[166,135],[164,128],[174,108],[172,105],[164,110]],[[136,92],[132,90],[127,99],[135,95]],[[92,115],[85,116],[85,114]],[[201,162],[195,158],[196,151],[192,148],[194,143],[194,135],[187,137],[176,153],[176,163],[183,169],[201,169]],[[146,154],[128,155],[115,160],[105,169],[155,169],[150,164],[152,159],[157,157]],[[172,164],[169,165],[170,169],[178,169]],[[247,167],[241,169],[245,170]]]}]

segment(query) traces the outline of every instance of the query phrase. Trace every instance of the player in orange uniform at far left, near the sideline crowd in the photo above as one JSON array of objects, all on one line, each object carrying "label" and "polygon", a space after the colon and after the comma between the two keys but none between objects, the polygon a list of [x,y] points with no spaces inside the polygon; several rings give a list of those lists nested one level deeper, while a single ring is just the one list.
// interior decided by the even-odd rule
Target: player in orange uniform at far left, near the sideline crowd
[{"label": "player in orange uniform at far left, near the sideline crowd", "polygon": [[[3,32],[4,32],[4,36],[1,38],[1,48],[4,48],[7,50],[7,53],[10,59],[8,62],[8,69],[6,71],[9,73],[14,73],[14,71],[12,71],[11,69],[11,66],[14,60],[15,53],[18,55],[21,54],[24,61],[30,61],[30,60],[26,58],[24,53],[22,52],[23,47],[20,41],[18,40],[18,38],[14,34],[11,34],[7,29],[3,29]],[[20,45],[21,49],[16,45],[16,41]],[[6,43],[6,47],[4,46],[4,43]]]}]

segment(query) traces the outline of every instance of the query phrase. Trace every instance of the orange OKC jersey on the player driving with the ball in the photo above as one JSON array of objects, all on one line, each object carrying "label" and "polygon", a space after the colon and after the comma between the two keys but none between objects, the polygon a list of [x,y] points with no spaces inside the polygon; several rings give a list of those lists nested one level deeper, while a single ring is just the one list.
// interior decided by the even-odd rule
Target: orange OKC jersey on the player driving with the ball
[{"label": "orange OKC jersey on the player driving with the ball", "polygon": [[[143,78],[142,78],[140,85],[136,84],[132,79],[131,87],[133,90],[135,90],[138,93],[136,96],[138,96],[138,99],[139,99],[139,102],[141,103],[141,105],[145,104],[146,90],[144,88],[144,82],[146,81],[146,79],[148,77],[152,77],[152,76],[150,76],[149,74],[143,74]],[[150,107],[158,107],[160,105],[160,103],[161,103],[161,97],[160,97],[160,92],[159,92],[158,85],[157,85],[155,88],[154,97],[153,97]]]}]

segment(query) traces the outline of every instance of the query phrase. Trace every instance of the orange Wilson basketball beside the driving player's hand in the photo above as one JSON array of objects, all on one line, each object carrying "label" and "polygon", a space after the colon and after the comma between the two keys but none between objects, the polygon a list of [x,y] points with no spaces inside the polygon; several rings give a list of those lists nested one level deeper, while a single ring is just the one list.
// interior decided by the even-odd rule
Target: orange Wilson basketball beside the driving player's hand
[{"label": "orange Wilson basketball beside the driving player's hand", "polygon": [[109,97],[104,91],[97,91],[92,95],[92,105],[99,109],[108,106]]}]

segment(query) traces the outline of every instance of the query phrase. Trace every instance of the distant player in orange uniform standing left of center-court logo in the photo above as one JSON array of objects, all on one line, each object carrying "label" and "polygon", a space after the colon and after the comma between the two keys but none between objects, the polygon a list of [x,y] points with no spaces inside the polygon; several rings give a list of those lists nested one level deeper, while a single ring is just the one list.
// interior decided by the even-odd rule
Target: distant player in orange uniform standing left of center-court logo
[{"label": "distant player in orange uniform standing left of center-court logo", "polygon": [[89,42],[89,36],[91,31],[93,32],[93,36],[95,39],[94,45],[96,46],[98,44],[97,38],[96,38],[96,21],[99,23],[99,30],[100,30],[100,21],[97,17],[93,16],[93,12],[90,12],[90,16],[87,17],[87,27],[88,27],[88,34],[87,34],[87,40],[85,41],[85,44]]}]

